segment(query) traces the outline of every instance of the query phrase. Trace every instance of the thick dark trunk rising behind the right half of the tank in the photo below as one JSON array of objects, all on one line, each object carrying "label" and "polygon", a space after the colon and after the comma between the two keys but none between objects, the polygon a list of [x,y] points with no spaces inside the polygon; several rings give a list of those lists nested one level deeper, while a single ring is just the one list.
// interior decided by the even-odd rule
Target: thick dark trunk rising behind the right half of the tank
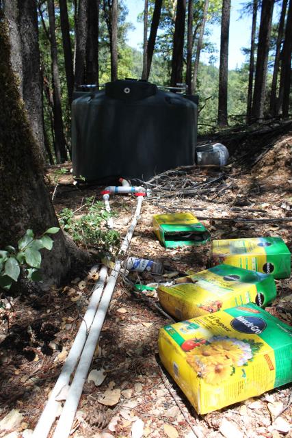
[{"label": "thick dark trunk rising behind the right half of the tank", "polygon": [[183,81],[183,43],[185,39],[186,0],[177,0],[176,20],[174,26],[174,43],[172,51],[172,74],[170,85],[175,87]]}]

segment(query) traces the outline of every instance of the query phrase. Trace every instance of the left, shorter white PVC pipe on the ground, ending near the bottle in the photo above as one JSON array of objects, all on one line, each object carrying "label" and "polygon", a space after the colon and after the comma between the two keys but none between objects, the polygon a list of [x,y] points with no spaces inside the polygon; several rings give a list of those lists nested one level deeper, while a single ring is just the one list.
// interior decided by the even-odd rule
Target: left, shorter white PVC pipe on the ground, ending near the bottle
[{"label": "left, shorter white PVC pipe on the ground, ending near the bottle", "polygon": [[55,387],[53,388],[53,391],[51,391],[51,395],[46,406],[44,407],[44,411],[42,411],[40,420],[38,420],[38,424],[34,429],[32,438],[46,438],[49,435],[51,426],[55,421],[55,417],[60,406],[60,402],[57,402],[55,398],[59,395],[62,388],[66,387],[66,385],[70,383],[70,376],[76,368],[78,359],[81,355],[83,346],[88,336],[88,331],[90,330],[90,326],[92,326],[98,303],[101,300],[101,294],[103,292],[106,278],[107,268],[105,266],[102,266],[98,280],[96,281],[92,289],[92,297],[90,298],[88,309],[85,312],[85,315],[79,327],[79,331],[77,332],[77,335],[75,337],[75,341],[72,344],[68,357],[62,368],[61,374],[59,375],[57,382],[55,383]]}]

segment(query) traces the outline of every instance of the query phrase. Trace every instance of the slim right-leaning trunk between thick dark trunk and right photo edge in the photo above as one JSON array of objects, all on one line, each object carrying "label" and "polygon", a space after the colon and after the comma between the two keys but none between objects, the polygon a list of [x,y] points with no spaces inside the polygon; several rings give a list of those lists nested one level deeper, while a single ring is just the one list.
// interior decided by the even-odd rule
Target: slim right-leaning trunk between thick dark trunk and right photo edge
[{"label": "slim right-leaning trunk between thick dark trunk and right photo edge", "polygon": [[282,10],[280,15],[280,21],[278,26],[278,36],[276,41],[276,54],[275,54],[275,61],[274,61],[274,70],[273,70],[273,79],[271,81],[271,96],[269,99],[269,111],[271,112],[271,116],[276,116],[276,94],[277,94],[277,80],[278,80],[278,73],[279,73],[279,65],[280,65],[280,53],[281,53],[281,44],[282,44],[282,37],[284,32],[284,23],[285,23],[285,16],[286,16],[286,10],[287,10],[287,3],[288,0],[282,1]]}]

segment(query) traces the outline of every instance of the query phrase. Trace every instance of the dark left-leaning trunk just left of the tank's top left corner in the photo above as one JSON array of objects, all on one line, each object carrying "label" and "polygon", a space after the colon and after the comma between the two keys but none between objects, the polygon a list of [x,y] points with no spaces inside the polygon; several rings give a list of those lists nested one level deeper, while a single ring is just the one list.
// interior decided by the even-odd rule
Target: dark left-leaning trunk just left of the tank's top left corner
[{"label": "dark left-leaning trunk just left of the tank's top left corner", "polygon": [[65,60],[66,82],[69,105],[72,102],[72,92],[74,89],[74,71],[72,60],[72,47],[70,39],[70,25],[68,20],[67,0],[59,0],[59,14],[62,29],[62,42]]}]

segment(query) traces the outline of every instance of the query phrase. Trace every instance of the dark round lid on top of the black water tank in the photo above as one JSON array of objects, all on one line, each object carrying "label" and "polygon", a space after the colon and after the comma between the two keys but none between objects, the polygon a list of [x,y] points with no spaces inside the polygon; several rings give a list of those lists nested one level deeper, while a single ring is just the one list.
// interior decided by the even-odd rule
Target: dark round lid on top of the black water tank
[{"label": "dark round lid on top of the black water tank", "polygon": [[146,97],[154,96],[157,93],[157,86],[147,81],[133,81],[118,79],[105,84],[105,94],[111,99],[122,101],[140,101]]}]

